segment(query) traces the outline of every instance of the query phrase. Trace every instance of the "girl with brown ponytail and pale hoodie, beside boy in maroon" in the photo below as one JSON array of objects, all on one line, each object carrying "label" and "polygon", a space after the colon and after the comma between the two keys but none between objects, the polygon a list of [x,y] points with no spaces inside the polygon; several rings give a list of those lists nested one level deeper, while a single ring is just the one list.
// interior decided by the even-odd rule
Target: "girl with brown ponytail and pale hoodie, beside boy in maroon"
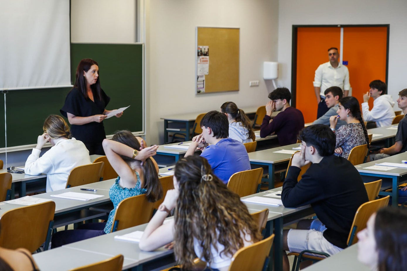
[{"label": "girl with brown ponytail and pale hoodie, beside boy in maroon", "polygon": [[252,123],[245,112],[234,102],[225,102],[221,106],[221,112],[225,113],[229,121],[229,138],[242,143],[252,142],[256,139]]}]

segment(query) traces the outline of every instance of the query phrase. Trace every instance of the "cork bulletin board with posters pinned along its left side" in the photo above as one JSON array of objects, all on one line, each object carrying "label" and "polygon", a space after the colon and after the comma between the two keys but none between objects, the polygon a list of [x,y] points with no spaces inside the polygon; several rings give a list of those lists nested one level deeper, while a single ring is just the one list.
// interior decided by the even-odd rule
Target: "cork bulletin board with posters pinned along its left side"
[{"label": "cork bulletin board with posters pinned along its left side", "polygon": [[197,27],[195,91],[239,91],[239,28]]}]

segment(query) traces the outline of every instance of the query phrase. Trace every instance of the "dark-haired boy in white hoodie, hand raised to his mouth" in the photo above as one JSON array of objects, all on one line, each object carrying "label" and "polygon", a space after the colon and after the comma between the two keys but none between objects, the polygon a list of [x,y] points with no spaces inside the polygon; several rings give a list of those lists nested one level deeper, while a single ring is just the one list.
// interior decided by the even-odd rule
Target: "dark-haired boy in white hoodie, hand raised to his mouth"
[{"label": "dark-haired boy in white hoodie, hand raised to his mouth", "polygon": [[[396,114],[394,114],[393,98],[385,94],[387,86],[381,80],[373,80],[369,84],[370,90],[363,94],[362,113],[365,121],[376,121],[377,127],[390,126]],[[373,108],[369,111],[368,101],[373,98]]]}]

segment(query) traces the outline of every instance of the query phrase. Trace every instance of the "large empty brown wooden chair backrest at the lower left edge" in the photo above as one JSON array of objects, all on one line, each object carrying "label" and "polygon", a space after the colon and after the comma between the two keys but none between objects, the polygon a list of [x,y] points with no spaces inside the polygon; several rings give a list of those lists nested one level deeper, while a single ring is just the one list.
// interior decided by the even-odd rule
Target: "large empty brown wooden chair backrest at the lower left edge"
[{"label": "large empty brown wooden chair backrest at the lower left edge", "polygon": [[0,218],[0,246],[8,249],[24,247],[34,252],[45,242],[48,248],[54,213],[53,201],[5,212]]}]

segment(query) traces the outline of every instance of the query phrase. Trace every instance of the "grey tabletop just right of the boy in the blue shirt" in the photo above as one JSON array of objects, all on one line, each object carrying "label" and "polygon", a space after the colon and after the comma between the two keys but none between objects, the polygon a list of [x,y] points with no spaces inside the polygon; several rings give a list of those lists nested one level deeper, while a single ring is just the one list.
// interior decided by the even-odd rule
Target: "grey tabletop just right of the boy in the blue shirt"
[{"label": "grey tabletop just right of the boy in the blue shirt", "polygon": [[276,164],[290,160],[293,154],[276,153],[279,150],[293,150],[293,147],[300,146],[300,143],[294,143],[287,146],[275,147],[272,149],[261,150],[249,153],[250,162]]}]

